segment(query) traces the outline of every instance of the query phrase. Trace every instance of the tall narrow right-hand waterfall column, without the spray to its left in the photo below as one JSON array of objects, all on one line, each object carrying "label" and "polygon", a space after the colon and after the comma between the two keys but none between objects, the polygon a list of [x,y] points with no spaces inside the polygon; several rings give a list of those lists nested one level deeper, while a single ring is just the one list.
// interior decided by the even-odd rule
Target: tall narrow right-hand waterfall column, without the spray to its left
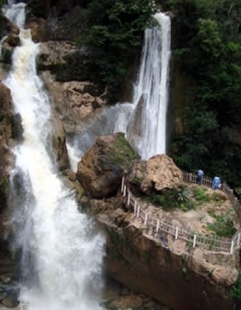
[{"label": "tall narrow right-hand waterfall column, without the spray to its left", "polygon": [[171,21],[163,13],[154,17],[160,26],[145,30],[134,112],[127,125],[127,138],[143,159],[166,152]]}]

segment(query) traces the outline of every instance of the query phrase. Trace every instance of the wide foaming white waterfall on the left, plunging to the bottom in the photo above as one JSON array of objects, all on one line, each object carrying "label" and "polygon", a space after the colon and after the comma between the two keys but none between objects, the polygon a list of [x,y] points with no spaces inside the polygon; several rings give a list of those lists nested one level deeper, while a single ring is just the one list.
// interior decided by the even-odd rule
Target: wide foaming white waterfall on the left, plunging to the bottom
[{"label": "wide foaming white waterfall on the left, plunging to the bottom", "polygon": [[[6,15],[23,26],[23,3],[9,5]],[[21,30],[20,39],[5,81],[23,125],[23,142],[12,149],[10,199],[13,246],[22,257],[20,300],[27,310],[102,309],[105,240],[77,210],[52,162],[50,103],[36,75],[39,45],[29,30]]]}]

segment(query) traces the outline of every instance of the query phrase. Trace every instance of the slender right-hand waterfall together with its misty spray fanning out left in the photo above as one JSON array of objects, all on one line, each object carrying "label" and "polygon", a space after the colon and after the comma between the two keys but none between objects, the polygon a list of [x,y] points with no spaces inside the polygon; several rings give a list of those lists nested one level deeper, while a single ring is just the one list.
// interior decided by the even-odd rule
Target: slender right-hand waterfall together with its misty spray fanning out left
[{"label": "slender right-hand waterfall together with its misty spray fanning out left", "polygon": [[141,158],[165,154],[171,21],[163,13],[155,19],[160,26],[145,30],[132,103],[103,109],[70,141],[76,152],[85,152],[100,134],[125,132]]}]

